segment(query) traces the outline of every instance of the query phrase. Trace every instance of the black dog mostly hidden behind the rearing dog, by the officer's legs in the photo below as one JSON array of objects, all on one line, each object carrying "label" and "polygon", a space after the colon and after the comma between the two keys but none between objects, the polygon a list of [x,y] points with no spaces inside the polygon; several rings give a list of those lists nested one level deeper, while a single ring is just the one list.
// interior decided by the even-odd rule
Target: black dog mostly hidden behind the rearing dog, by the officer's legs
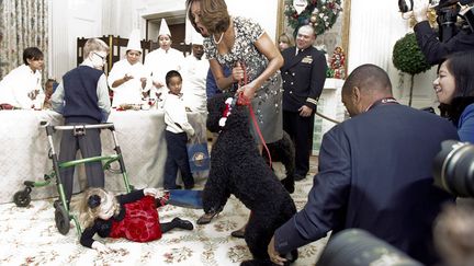
[{"label": "black dog mostly hidden behind the rearing dog, by the officer's legs", "polygon": [[[290,135],[283,131],[283,138],[279,141],[267,143],[271,161],[281,162],[285,167],[286,176],[281,181],[286,190],[294,192],[294,171],[295,171],[295,148]],[[267,163],[270,161],[267,151],[263,149],[263,158]]]}]

